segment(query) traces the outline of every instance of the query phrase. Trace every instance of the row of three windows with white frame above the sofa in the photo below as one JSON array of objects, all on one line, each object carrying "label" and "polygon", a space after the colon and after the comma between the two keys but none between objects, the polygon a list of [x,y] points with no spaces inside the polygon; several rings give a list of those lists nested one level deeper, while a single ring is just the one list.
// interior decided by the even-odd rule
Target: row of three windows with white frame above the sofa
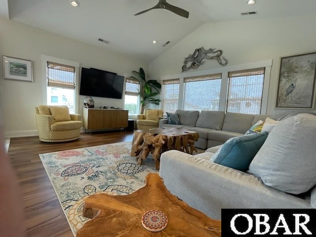
[{"label": "row of three windows with white frame above the sofa", "polygon": [[164,93],[162,108],[168,111],[168,107],[164,105],[169,99],[164,92],[165,87],[169,86],[167,81],[177,78],[177,90],[173,93],[177,100],[170,111],[214,110],[265,115],[271,66],[272,60],[264,60],[163,76],[160,78]]}]

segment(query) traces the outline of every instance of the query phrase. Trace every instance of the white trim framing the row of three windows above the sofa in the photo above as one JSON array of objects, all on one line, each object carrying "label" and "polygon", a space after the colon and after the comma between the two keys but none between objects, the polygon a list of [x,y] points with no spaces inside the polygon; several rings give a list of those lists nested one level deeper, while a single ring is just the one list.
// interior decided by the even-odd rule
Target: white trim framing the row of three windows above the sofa
[{"label": "white trim framing the row of three windows above the sofa", "polygon": [[229,81],[228,73],[232,71],[241,71],[241,70],[248,70],[248,69],[253,69],[253,68],[265,68],[261,112],[260,112],[260,114],[265,115],[267,114],[267,107],[268,107],[268,93],[269,93],[269,84],[270,84],[270,76],[271,76],[271,67],[272,67],[272,59],[269,59],[269,60],[258,61],[258,62],[253,62],[253,63],[225,66],[222,68],[213,68],[213,69],[202,70],[202,71],[163,76],[160,78],[160,80],[163,81],[163,80],[168,80],[168,79],[179,78],[180,85],[179,85],[178,109],[183,109],[184,78],[222,73],[219,111],[226,111],[227,96],[228,96],[228,81]]}]

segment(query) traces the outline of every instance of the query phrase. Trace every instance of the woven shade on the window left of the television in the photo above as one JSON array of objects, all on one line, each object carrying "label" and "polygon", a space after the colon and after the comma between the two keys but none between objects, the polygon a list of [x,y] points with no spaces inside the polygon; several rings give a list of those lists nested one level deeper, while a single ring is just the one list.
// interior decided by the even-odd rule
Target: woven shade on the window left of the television
[{"label": "woven shade on the window left of the television", "polygon": [[47,86],[75,89],[75,67],[47,62]]}]

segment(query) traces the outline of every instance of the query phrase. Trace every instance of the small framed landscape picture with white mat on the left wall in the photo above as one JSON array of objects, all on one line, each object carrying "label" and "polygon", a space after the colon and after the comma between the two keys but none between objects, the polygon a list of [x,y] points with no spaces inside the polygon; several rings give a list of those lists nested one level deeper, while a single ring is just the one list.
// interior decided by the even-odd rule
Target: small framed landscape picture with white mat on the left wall
[{"label": "small framed landscape picture with white mat on the left wall", "polygon": [[33,81],[32,61],[3,56],[3,78]]}]

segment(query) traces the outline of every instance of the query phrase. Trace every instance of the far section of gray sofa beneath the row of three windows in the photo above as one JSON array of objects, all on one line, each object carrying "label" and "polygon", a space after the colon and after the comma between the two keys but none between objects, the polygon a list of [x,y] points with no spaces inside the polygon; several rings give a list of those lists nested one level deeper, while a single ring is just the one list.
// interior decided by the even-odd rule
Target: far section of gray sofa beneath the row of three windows
[{"label": "far section of gray sofa beneath the row of three windows", "polygon": [[199,134],[195,146],[207,149],[225,143],[229,138],[245,134],[259,120],[267,115],[246,115],[223,111],[185,111],[177,110],[181,125],[168,124],[166,118],[159,120],[159,127],[189,128]]}]

